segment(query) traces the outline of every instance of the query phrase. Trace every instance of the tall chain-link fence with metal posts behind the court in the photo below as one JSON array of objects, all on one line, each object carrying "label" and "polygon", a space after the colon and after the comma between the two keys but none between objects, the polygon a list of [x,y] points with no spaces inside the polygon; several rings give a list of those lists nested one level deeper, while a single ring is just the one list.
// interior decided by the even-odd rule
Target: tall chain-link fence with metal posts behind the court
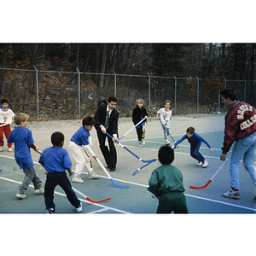
[{"label": "tall chain-link fence with metal posts behind the court", "polygon": [[[2,69],[2,68],[0,68]],[[145,101],[150,116],[165,101],[172,101],[173,114],[224,111],[219,90],[234,88],[241,101],[253,105],[255,81],[157,77],[114,73],[79,73],[4,69],[2,99],[15,113],[25,112],[31,120],[82,119],[95,113],[101,99],[118,99],[120,117],[131,117],[138,98]]]}]

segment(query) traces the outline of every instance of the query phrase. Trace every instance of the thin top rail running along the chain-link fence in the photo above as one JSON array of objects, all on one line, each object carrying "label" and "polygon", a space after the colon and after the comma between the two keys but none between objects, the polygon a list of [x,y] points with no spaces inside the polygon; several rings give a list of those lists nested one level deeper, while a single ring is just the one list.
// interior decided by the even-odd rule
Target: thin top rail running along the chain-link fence
[{"label": "thin top rail running along the chain-link fence", "polygon": [[[55,71],[55,70],[31,70],[31,69],[20,69],[20,68],[9,68],[9,67],[0,67],[0,70],[8,70],[8,71],[26,71],[26,72],[39,72],[39,73],[67,73],[67,74],[75,74],[78,72],[67,72],[67,71]],[[79,72],[80,74],[85,74],[85,75],[106,75],[106,76],[123,76],[123,77],[137,77],[137,78],[148,78],[148,75],[134,75],[134,74],[122,74],[122,73],[87,73],[87,72]],[[154,75],[150,75],[151,78],[154,79],[190,79],[190,80],[205,80],[205,79],[201,79],[201,78],[191,78],[190,76],[188,78],[178,78],[176,76],[173,77],[162,77],[162,76],[154,76]],[[220,79],[218,79],[220,80]],[[235,79],[224,79],[222,81],[227,81],[227,82],[256,82],[256,80],[235,80]]]}]

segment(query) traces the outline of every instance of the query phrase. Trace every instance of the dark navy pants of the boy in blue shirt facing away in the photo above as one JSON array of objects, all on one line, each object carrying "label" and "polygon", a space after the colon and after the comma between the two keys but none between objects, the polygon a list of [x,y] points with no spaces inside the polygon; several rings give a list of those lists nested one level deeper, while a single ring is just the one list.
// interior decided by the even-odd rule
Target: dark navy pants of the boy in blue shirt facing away
[{"label": "dark navy pants of the boy in blue shirt facing away", "polygon": [[49,172],[47,174],[45,187],[44,187],[44,202],[46,209],[55,208],[54,203],[54,192],[55,186],[59,185],[67,195],[68,201],[73,205],[73,207],[78,208],[80,201],[77,195],[73,192],[71,183],[67,177],[66,172]]}]

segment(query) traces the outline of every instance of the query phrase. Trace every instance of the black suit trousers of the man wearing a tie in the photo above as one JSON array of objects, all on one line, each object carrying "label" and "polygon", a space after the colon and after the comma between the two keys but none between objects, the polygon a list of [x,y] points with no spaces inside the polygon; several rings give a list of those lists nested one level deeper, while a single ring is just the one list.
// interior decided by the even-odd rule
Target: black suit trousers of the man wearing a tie
[{"label": "black suit trousers of the man wearing a tie", "polygon": [[[116,149],[114,147],[112,138],[108,137],[108,135],[102,133],[101,130],[97,129],[96,131],[97,131],[97,136],[98,136],[98,140],[100,143],[100,148],[102,150],[102,154],[106,161],[106,164],[108,166],[116,166],[117,154],[116,154]],[[108,137],[109,148],[108,148],[108,146],[105,146],[106,137]]]}]

